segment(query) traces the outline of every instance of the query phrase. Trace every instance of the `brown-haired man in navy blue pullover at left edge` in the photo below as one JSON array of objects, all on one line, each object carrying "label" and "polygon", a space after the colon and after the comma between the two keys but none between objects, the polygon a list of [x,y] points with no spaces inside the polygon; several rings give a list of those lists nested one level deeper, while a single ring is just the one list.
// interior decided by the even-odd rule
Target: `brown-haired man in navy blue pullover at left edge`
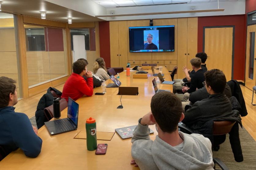
[{"label": "brown-haired man in navy blue pullover at left edge", "polygon": [[15,112],[18,102],[16,83],[13,79],[0,77],[0,146],[7,154],[18,147],[28,157],[37,157],[42,148],[42,139],[37,128],[31,125],[28,116]]}]

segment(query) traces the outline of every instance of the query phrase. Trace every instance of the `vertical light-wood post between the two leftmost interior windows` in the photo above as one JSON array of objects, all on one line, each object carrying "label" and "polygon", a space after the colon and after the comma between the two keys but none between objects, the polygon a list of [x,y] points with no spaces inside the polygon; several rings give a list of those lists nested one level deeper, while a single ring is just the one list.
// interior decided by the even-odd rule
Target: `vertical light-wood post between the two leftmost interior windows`
[{"label": "vertical light-wood post between the two leftmost interior windows", "polygon": [[19,63],[20,63],[20,76],[21,76],[21,91],[22,97],[29,97],[28,92],[28,69],[27,69],[27,56],[25,45],[25,29],[23,24],[22,15],[16,15],[17,17],[17,33],[18,33],[18,50],[19,50]]}]

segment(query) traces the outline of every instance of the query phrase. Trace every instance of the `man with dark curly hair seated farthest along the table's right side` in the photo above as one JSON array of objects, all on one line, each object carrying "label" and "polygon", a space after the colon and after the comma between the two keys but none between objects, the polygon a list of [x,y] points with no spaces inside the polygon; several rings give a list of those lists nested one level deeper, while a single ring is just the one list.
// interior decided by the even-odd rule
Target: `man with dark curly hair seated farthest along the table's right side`
[{"label": "man with dark curly hair seated farthest along the table's right side", "polygon": [[[205,61],[207,59],[207,54],[205,52],[199,52],[196,54],[196,58],[201,59],[201,68],[205,71],[207,71],[207,67],[205,64]],[[175,83],[173,84],[173,93],[176,93],[177,90],[181,90],[184,86],[184,83],[191,82],[191,78],[196,73],[194,70],[190,71],[190,69],[186,68],[186,66],[183,67],[183,71],[186,75],[183,79],[174,79]]]}]

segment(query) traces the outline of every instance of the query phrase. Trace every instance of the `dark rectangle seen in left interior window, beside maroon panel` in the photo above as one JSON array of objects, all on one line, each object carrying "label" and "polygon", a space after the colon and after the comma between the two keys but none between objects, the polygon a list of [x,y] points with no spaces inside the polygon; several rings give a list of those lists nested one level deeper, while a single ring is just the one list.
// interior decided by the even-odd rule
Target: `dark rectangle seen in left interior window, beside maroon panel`
[{"label": "dark rectangle seen in left interior window, beside maroon panel", "polygon": [[27,51],[45,51],[44,28],[25,28]]}]

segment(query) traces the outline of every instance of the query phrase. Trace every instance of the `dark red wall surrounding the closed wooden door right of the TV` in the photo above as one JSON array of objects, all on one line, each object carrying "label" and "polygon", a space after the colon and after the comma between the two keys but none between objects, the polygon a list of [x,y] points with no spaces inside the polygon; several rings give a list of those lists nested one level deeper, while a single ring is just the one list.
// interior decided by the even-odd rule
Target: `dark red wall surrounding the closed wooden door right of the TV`
[{"label": "dark red wall surrounding the closed wooden door right of the TV", "polygon": [[198,17],[198,52],[203,51],[203,27],[227,25],[235,26],[235,47],[233,67],[233,79],[235,80],[244,80],[246,46],[246,29],[244,27],[245,23],[245,15]]}]

